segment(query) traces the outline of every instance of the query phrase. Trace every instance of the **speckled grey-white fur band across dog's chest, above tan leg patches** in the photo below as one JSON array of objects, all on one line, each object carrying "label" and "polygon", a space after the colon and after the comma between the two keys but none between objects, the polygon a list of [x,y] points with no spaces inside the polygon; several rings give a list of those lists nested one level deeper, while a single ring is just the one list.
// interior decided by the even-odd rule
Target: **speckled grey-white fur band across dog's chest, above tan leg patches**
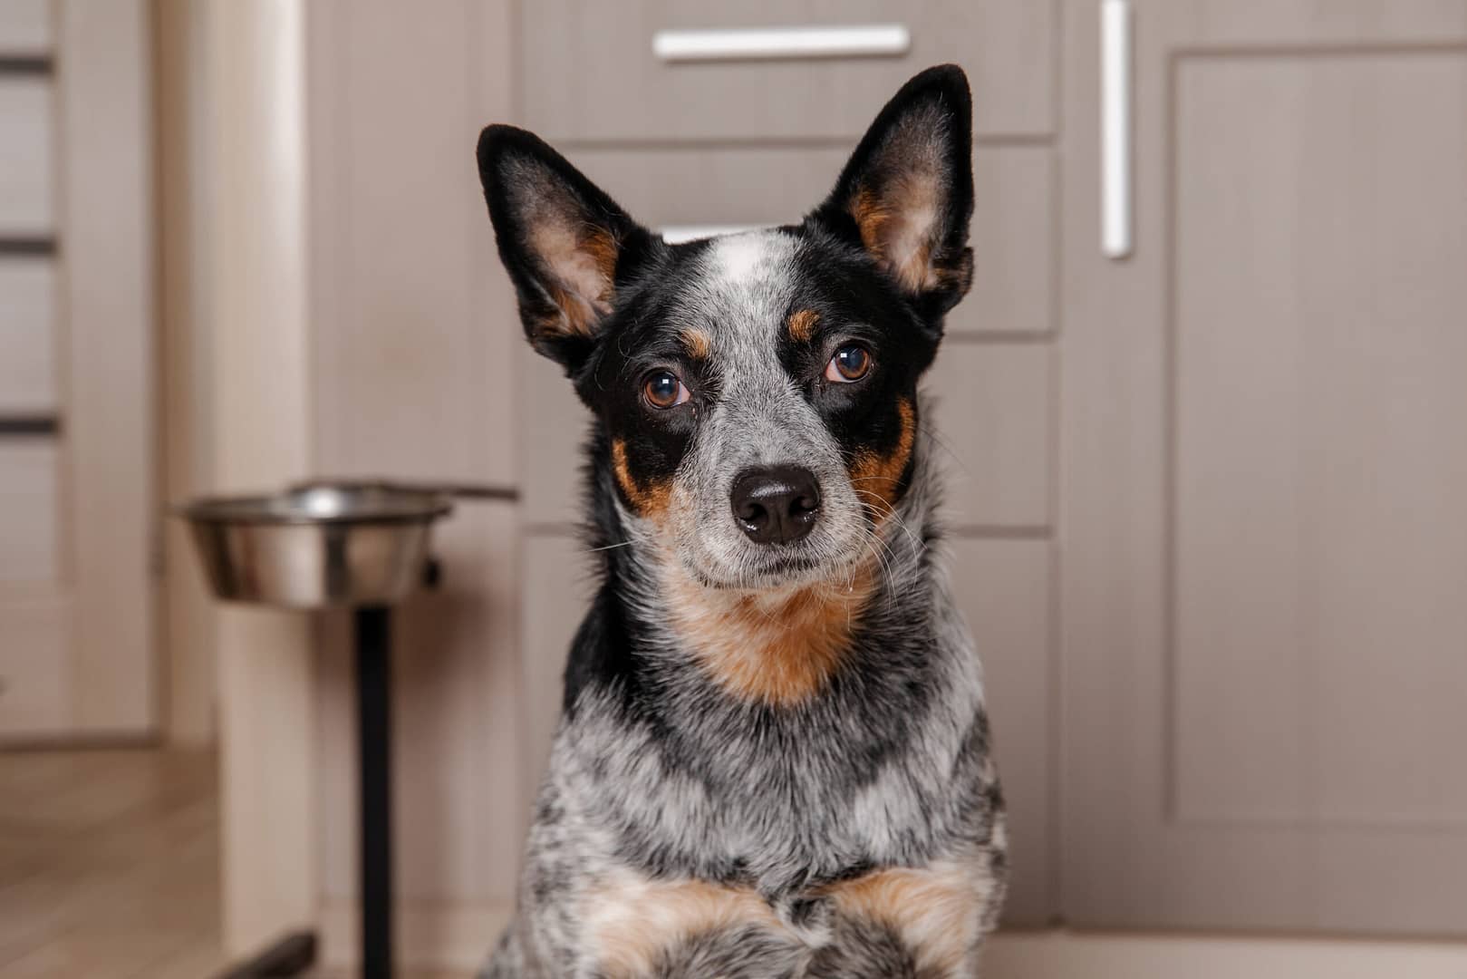
[{"label": "speckled grey-white fur band across dog's chest, above tan leg patches", "polygon": [[983,738],[955,721],[939,713],[908,731],[901,751],[871,762],[820,732],[797,743],[728,731],[679,741],[582,713],[557,749],[559,791],[609,857],[778,895],[866,867],[921,865],[968,837],[986,757]]}]

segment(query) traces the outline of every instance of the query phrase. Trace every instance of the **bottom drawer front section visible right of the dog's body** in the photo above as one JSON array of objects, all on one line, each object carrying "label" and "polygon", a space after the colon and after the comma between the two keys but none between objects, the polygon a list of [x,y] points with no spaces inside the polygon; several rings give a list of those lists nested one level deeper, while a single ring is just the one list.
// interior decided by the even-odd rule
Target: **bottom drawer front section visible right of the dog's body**
[{"label": "bottom drawer front section visible right of the dog's body", "polygon": [[952,590],[978,658],[1009,829],[1003,920],[1045,925],[1053,895],[1050,543],[956,539]]}]

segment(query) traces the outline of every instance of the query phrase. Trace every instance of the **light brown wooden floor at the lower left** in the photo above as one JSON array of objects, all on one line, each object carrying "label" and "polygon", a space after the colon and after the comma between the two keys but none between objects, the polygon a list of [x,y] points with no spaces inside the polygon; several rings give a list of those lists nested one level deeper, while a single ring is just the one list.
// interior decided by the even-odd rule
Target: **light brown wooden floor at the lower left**
[{"label": "light brown wooden floor at the lower left", "polygon": [[0,751],[0,979],[224,966],[211,754]]}]

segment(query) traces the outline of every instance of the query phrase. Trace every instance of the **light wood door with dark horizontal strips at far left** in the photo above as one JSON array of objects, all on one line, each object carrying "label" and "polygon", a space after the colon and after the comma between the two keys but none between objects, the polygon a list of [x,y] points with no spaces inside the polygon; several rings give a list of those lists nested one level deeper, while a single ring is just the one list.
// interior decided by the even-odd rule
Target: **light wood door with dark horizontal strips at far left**
[{"label": "light wood door with dark horizontal strips at far left", "polygon": [[156,721],[148,4],[0,12],[0,744]]}]

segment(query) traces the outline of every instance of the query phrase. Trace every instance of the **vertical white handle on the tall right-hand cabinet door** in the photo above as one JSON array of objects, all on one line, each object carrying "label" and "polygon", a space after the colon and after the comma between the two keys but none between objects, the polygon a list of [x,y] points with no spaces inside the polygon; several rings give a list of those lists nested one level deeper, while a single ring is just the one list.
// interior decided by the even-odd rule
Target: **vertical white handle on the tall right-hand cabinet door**
[{"label": "vertical white handle on the tall right-hand cabinet door", "polygon": [[1131,254],[1131,0],[1100,0],[1100,252]]}]

